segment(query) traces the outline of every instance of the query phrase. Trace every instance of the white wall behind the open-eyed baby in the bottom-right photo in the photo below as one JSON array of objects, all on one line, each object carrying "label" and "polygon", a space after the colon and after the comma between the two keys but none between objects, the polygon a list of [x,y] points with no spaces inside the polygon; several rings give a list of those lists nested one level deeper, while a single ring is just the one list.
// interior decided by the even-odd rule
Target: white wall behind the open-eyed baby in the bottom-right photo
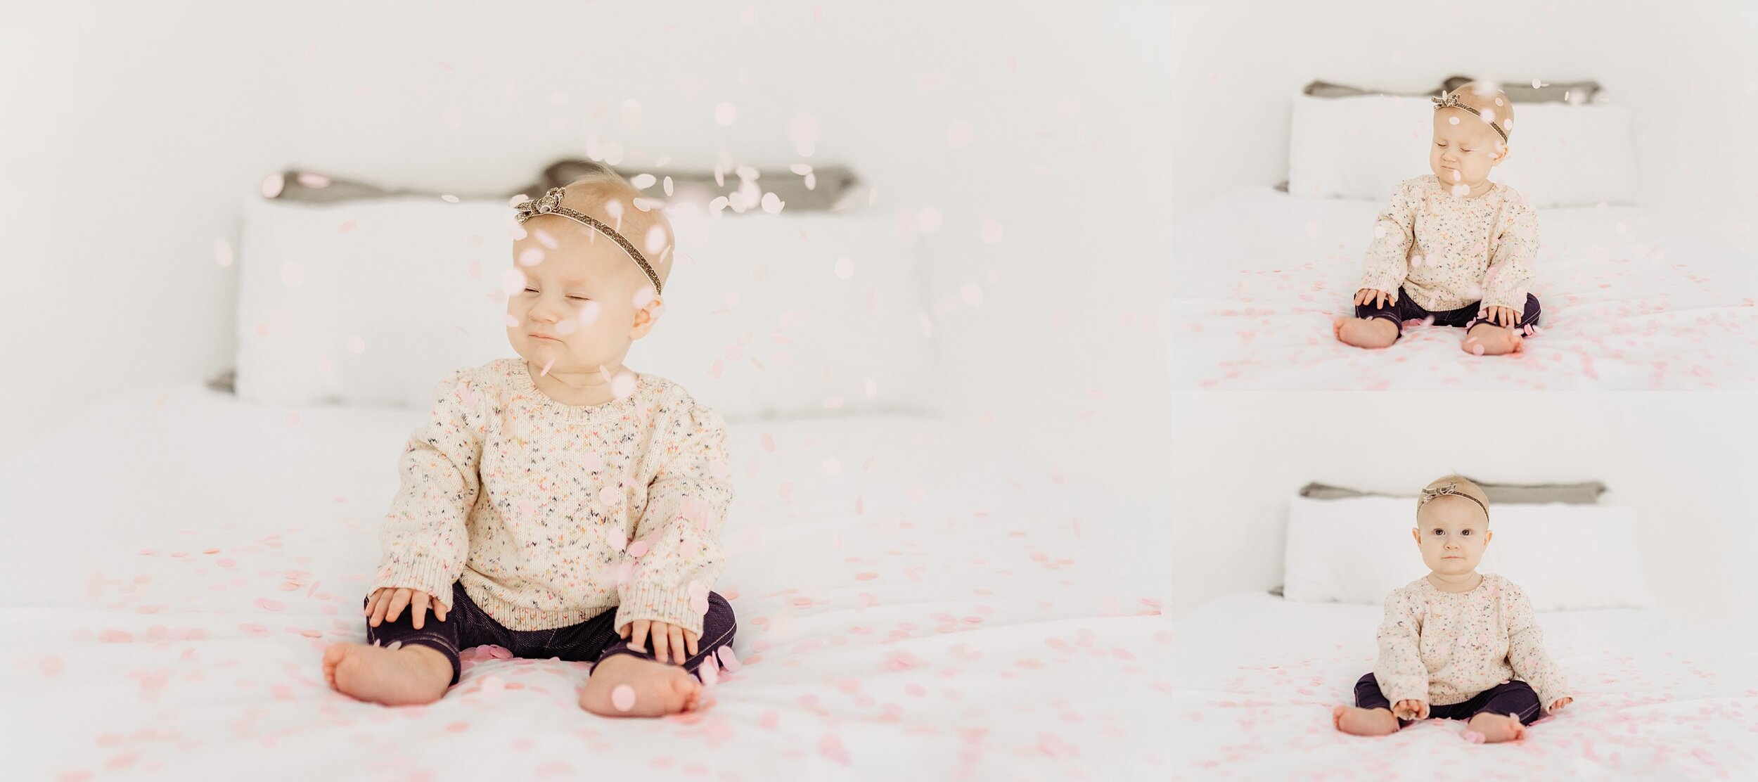
[{"label": "white wall behind the open-eyed baby in the bottom-right photo", "polygon": [[[1174,492],[1169,613],[1282,583],[1287,506],[1308,482],[1415,496],[1464,473],[1496,483],[1600,480],[1637,510],[1663,606],[1751,617],[1758,582],[1758,411],[1751,394],[1178,394],[1174,439],[1201,443]],[[1412,550],[1412,557],[1417,554]],[[1593,568],[1595,562],[1556,562]]]}]

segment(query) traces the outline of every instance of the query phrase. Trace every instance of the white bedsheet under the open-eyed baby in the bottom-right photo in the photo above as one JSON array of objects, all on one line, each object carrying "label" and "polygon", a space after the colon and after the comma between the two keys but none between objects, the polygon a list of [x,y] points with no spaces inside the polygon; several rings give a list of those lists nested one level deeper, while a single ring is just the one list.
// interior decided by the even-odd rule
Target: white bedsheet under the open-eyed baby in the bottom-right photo
[{"label": "white bedsheet under the open-eyed baby in the bottom-right photo", "polygon": [[1658,610],[1545,612],[1545,648],[1575,701],[1505,745],[1464,722],[1348,736],[1331,708],[1373,670],[1378,606],[1210,601],[1173,622],[1174,778],[1489,780],[1754,778],[1758,652],[1739,627],[1712,638]]}]

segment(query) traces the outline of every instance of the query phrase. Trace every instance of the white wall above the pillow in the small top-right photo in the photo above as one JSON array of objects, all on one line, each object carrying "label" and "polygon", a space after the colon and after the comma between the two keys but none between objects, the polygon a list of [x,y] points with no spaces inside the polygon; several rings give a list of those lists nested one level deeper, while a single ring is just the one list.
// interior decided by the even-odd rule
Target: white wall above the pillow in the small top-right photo
[{"label": "white wall above the pillow in the small top-right photo", "polygon": [[[1598,81],[1631,107],[1647,206],[1758,206],[1758,4],[1183,2],[1173,206],[1287,179],[1289,97],[1313,79],[1403,93],[1449,76]],[[1519,155],[1519,135],[1514,137]],[[1412,176],[1426,169],[1415,162]],[[1747,225],[1747,230],[1751,227]]]}]

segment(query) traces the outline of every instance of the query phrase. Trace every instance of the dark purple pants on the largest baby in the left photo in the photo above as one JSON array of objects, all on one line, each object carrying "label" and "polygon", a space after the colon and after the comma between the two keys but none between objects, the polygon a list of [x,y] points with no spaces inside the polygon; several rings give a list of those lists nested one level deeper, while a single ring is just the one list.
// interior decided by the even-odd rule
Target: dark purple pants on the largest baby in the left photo
[{"label": "dark purple pants on the largest baby in the left photo", "polygon": [[[371,596],[360,601],[360,608]],[[452,610],[447,612],[445,622],[434,619],[432,612],[427,612],[422,619],[422,629],[415,629],[415,615],[408,608],[397,615],[397,620],[383,620],[378,627],[373,627],[371,617],[366,622],[366,640],[367,643],[376,643],[380,647],[390,645],[392,641],[403,641],[403,645],[420,643],[440,650],[448,661],[452,661],[452,684],[457,684],[462,666],[457,661],[457,652],[469,647],[482,647],[492,643],[496,647],[505,647],[513,652],[513,657],[529,659],[548,659],[561,657],[566,661],[580,663],[598,663],[605,657],[615,654],[633,654],[636,657],[654,659],[654,641],[647,638],[642,645],[647,647],[645,652],[629,648],[629,641],[617,636],[617,610],[612,608],[599,613],[585,622],[573,624],[568,627],[556,629],[533,629],[519,631],[501,627],[494,617],[487,615],[482,608],[471,603],[469,594],[464,592],[464,585],[452,583]],[[726,603],[717,592],[708,592],[708,613],[701,617],[701,638],[696,643],[696,654],[684,659],[684,670],[696,673],[708,655],[721,650],[721,647],[730,647],[733,643],[733,631],[738,626],[733,622],[733,606]],[[672,654],[666,652],[666,659]]]}]

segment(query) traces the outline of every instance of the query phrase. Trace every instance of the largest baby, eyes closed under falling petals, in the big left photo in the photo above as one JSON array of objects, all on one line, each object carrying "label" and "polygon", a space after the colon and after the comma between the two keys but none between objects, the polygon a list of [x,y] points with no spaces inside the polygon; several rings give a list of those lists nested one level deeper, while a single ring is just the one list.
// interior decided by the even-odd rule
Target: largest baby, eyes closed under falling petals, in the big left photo
[{"label": "largest baby, eyes closed under falling petals, in the big left photo", "polygon": [[323,677],[364,701],[432,703],[459,682],[461,648],[499,645],[594,663],[592,713],[701,708],[717,661],[737,666],[733,612],[708,590],[733,496],[726,425],[622,366],[663,309],[672,223],[608,169],[517,220],[519,358],[434,388],[380,531],[371,645],[327,647]]}]

